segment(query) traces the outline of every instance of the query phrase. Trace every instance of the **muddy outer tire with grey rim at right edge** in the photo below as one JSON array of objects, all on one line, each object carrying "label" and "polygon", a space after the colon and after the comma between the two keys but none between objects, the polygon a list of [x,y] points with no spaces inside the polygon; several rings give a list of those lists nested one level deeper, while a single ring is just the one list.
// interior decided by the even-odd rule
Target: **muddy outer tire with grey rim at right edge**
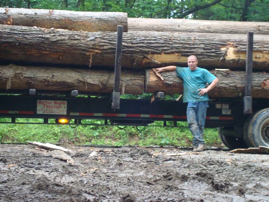
[{"label": "muddy outer tire with grey rim at right edge", "polygon": [[252,147],[269,147],[269,108],[258,111],[252,117],[247,133]]}]

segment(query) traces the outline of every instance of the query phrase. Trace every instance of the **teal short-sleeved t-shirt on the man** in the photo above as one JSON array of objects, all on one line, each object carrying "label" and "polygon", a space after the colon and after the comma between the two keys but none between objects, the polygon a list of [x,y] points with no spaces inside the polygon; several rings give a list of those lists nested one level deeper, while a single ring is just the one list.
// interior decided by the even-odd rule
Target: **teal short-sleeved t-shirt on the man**
[{"label": "teal short-sleeved t-shirt on the man", "polygon": [[200,102],[209,100],[207,93],[205,95],[198,95],[202,89],[206,87],[206,83],[211,83],[216,76],[211,74],[208,70],[197,68],[190,70],[189,67],[176,67],[176,75],[183,79],[183,102]]}]

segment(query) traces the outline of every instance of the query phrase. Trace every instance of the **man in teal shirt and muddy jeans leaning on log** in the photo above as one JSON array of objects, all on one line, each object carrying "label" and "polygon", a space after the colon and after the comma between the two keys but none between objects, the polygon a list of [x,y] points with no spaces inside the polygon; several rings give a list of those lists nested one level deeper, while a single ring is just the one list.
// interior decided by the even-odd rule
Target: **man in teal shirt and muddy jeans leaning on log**
[{"label": "man in teal shirt and muddy jeans leaning on log", "polygon": [[[193,151],[206,149],[203,140],[206,109],[208,107],[207,93],[218,83],[218,78],[206,69],[197,67],[195,55],[188,57],[189,67],[167,66],[156,68],[157,73],[162,71],[176,71],[176,75],[183,79],[183,102],[187,102],[187,121],[193,135]],[[206,87],[206,83],[209,86]]]}]

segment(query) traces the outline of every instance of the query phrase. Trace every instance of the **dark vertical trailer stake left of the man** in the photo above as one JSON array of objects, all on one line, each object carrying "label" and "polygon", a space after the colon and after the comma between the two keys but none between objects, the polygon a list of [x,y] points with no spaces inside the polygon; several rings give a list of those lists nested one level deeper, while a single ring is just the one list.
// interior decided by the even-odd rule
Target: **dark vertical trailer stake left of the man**
[{"label": "dark vertical trailer stake left of the man", "polygon": [[120,102],[120,81],[121,81],[121,53],[122,53],[122,33],[123,26],[117,26],[116,55],[115,55],[115,71],[114,71],[114,90],[112,92],[112,109],[119,109]]}]

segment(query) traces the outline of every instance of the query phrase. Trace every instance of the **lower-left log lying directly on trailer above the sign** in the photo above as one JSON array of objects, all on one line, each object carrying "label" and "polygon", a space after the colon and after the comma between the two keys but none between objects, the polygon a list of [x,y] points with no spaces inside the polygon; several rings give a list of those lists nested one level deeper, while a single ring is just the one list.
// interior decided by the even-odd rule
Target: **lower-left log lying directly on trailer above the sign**
[{"label": "lower-left log lying directly on trailer above the sign", "polygon": [[[0,65],[1,92],[29,90],[37,92],[54,91],[80,93],[111,93],[114,85],[114,71],[93,69],[72,69],[57,67],[31,67]],[[122,94],[142,94],[143,72],[122,71],[120,90]]]}]

